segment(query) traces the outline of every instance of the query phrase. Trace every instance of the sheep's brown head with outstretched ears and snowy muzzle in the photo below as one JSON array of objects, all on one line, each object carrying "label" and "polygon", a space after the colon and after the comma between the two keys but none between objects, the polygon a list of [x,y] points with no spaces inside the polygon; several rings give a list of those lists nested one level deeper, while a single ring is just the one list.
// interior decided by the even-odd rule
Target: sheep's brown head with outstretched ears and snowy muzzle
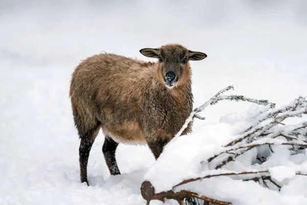
[{"label": "sheep's brown head with outstretched ears and snowy muzzle", "polygon": [[189,60],[202,60],[207,55],[186,49],[179,44],[168,44],[160,48],[144,48],[140,52],[152,58],[158,58],[158,78],[167,88],[181,86],[191,77]]}]

